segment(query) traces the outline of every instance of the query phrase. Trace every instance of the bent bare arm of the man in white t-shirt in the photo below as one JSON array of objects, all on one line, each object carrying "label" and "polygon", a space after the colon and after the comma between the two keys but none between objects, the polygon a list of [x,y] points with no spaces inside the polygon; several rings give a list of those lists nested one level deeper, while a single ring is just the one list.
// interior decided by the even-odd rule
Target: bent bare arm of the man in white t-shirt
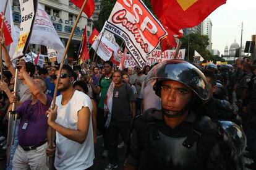
[{"label": "bent bare arm of the man in white t-shirt", "polygon": [[46,114],[49,116],[49,126],[59,132],[59,134],[69,138],[70,140],[79,142],[80,144],[85,141],[90,124],[90,109],[88,107],[83,107],[78,112],[77,129],[69,129],[55,122],[55,119],[57,118],[57,107],[54,108],[54,110],[49,108]]}]

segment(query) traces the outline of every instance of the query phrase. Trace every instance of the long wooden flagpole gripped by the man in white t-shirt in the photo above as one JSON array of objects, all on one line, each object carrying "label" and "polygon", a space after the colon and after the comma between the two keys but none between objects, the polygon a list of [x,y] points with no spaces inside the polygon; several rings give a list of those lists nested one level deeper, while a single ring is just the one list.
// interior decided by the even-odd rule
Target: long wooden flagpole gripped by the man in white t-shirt
[{"label": "long wooden flagpole gripped by the man in white t-shirt", "polygon": [[[64,50],[64,53],[62,54],[61,66],[59,67],[59,74],[61,74],[62,67],[64,65],[65,57],[66,57],[66,54],[67,54],[67,49],[69,49],[69,45],[70,45],[70,42],[72,40],[72,36],[74,35],[74,32],[75,32],[75,27],[77,27],[77,23],[79,22],[79,19],[82,15],[83,9],[85,8],[86,4],[87,4],[87,0],[85,0],[83,2],[83,5],[82,5],[82,7],[79,11],[79,15],[77,16],[77,19],[75,20],[75,24],[72,28],[71,33],[70,33],[69,40],[67,41],[66,48]],[[56,104],[56,96],[57,96],[57,91],[58,91],[59,80],[60,80],[60,77],[58,76],[58,78],[56,80],[56,85],[55,85],[55,88],[54,88],[53,103],[51,104],[52,109],[55,108],[55,104]],[[51,137],[51,138],[49,138],[49,142],[50,142],[49,143],[49,148],[53,148],[53,141],[56,137],[56,131],[53,130],[53,128],[49,127],[49,132],[50,132],[50,137]],[[49,169],[50,170],[54,169],[54,167],[53,167],[53,155],[49,157]]]}]

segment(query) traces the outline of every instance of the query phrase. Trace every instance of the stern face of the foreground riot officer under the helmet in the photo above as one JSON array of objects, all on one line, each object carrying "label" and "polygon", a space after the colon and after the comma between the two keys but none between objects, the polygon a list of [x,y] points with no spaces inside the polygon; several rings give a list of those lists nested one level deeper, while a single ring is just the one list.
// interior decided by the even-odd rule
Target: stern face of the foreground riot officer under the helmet
[{"label": "stern face of the foreground riot officer under the helmet", "polygon": [[192,91],[182,83],[164,81],[161,85],[161,105],[163,109],[181,111],[190,100]]}]

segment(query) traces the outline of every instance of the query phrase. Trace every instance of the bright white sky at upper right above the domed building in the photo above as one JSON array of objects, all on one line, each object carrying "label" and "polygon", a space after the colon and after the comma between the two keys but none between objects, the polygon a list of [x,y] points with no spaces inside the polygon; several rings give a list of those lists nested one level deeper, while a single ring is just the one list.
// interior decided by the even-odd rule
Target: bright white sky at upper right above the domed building
[{"label": "bright white sky at upper right above the domed building", "polygon": [[[226,4],[218,7],[208,18],[213,23],[211,43],[212,49],[218,49],[224,54],[236,39],[240,45],[241,25],[243,22],[242,44],[251,40],[256,33],[256,0],[228,0]],[[247,53],[245,53],[247,54]]]}]

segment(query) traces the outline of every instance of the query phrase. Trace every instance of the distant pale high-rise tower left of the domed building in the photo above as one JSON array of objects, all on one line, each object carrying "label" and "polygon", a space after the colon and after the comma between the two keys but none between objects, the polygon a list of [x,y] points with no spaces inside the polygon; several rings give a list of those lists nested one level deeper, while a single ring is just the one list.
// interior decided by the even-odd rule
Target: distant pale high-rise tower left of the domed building
[{"label": "distant pale high-rise tower left of the domed building", "polygon": [[208,35],[209,45],[207,46],[207,49],[209,51],[211,51],[211,48],[212,48],[212,43],[211,43],[212,27],[213,27],[213,23],[211,22],[211,19],[207,18],[207,19],[203,20],[202,27],[201,27],[201,34],[202,35]]}]

